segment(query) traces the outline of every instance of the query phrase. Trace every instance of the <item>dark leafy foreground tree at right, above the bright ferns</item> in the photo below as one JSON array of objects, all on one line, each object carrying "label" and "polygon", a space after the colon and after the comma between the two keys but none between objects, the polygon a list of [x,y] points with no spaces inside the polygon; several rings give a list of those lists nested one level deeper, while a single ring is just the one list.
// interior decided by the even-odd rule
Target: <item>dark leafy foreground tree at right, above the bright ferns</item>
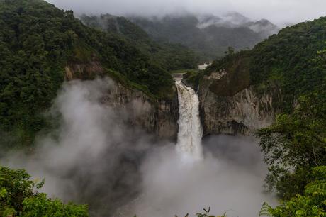
[{"label": "dark leafy foreground tree at right, above the bright ferns", "polygon": [[286,199],[303,194],[310,167],[326,165],[326,89],[301,96],[291,114],[281,114],[257,132],[270,166],[266,181]]}]

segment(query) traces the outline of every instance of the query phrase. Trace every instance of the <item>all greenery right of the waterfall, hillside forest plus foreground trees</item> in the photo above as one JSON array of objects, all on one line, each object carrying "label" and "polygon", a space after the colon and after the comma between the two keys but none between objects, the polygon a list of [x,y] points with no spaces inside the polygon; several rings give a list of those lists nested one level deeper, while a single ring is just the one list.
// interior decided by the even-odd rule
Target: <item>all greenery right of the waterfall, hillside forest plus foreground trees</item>
[{"label": "all greenery right of the waterfall, hillside forest plus foreground trees", "polygon": [[[325,168],[318,167],[326,165],[325,48],[326,18],[322,17],[284,28],[253,50],[231,50],[205,72],[227,72],[220,84],[210,87],[217,94],[216,87],[222,84],[235,93],[247,86],[254,87],[257,95],[281,92],[274,98],[275,109],[281,112],[276,123],[257,132],[269,165],[266,187],[285,199],[281,206],[270,208],[274,216],[325,214],[325,177],[313,175],[324,174]],[[235,76],[243,83],[239,89],[227,82],[235,81]]]}]

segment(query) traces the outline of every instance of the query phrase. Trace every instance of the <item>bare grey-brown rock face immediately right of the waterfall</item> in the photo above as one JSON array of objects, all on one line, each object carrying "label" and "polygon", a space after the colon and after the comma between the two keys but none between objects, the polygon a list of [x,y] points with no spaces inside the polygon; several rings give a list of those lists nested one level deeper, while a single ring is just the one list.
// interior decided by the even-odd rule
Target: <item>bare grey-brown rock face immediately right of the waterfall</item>
[{"label": "bare grey-brown rock face immediately right of the waterfall", "polygon": [[271,125],[277,113],[274,104],[281,99],[280,91],[259,95],[250,86],[232,94],[212,91],[211,87],[218,85],[225,74],[223,71],[204,76],[199,87],[198,97],[204,135],[219,133],[246,135],[258,128]]}]

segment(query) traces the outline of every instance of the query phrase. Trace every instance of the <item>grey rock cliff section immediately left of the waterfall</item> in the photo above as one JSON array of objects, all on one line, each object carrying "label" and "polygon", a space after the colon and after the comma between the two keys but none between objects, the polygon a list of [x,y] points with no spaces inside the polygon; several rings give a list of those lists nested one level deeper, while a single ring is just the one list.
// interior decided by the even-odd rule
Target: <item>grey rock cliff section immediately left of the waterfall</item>
[{"label": "grey rock cliff section immediately left of the waterfall", "polygon": [[[175,90],[176,92],[176,90]],[[130,126],[142,126],[159,138],[176,140],[178,133],[179,103],[177,95],[170,100],[152,99],[136,89],[116,83],[103,99],[113,107]]]}]

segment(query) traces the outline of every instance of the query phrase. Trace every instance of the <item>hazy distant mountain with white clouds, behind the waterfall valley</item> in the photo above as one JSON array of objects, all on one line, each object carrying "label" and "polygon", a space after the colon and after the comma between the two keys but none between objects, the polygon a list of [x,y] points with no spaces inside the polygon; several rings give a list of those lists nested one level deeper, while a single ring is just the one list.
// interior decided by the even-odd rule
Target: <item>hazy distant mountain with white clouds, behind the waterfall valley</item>
[{"label": "hazy distant mountain with white clouds, behind the waterfall valley", "polygon": [[130,16],[129,19],[155,40],[181,43],[195,50],[202,61],[223,56],[228,47],[235,50],[252,48],[279,31],[266,19],[251,21],[240,13],[223,16],[185,14],[163,18]]}]

